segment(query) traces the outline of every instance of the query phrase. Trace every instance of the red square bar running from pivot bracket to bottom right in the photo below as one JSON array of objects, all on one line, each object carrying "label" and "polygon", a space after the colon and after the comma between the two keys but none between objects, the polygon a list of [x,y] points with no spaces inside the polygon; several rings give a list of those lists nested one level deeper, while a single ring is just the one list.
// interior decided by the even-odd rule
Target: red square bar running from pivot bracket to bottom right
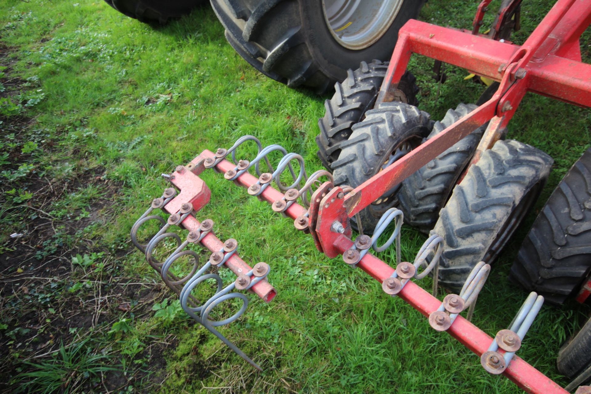
[{"label": "red square bar running from pivot bracket to bottom right", "polygon": [[[349,250],[353,242],[345,236],[340,236],[335,242],[335,247],[344,253]],[[372,278],[382,283],[384,279],[389,278],[394,272],[394,268],[381,261],[369,253],[357,263],[357,266],[363,271],[369,273]],[[415,310],[427,316],[436,311],[441,305],[439,299],[433,297],[414,282],[408,282],[398,297],[408,302]],[[490,346],[493,338],[489,337],[484,331],[470,323],[462,316],[458,316],[453,322],[452,327],[447,330],[452,337],[472,350],[478,356],[481,356]],[[504,353],[499,349],[499,353]],[[479,362],[479,360],[478,360]],[[509,364],[509,367],[503,372],[503,375],[511,379],[516,385],[524,389],[525,392],[534,394],[567,394],[568,392],[554,383],[543,373],[532,367],[518,356]]]}]

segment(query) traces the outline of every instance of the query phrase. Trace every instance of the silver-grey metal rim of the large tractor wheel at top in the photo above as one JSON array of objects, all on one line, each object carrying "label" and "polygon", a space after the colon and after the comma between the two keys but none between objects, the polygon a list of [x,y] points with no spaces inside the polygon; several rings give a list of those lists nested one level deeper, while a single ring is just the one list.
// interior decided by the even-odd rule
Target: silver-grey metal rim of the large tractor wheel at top
[{"label": "silver-grey metal rim of the large tractor wheel at top", "polygon": [[323,0],[324,21],[345,48],[361,50],[379,40],[404,0]]}]

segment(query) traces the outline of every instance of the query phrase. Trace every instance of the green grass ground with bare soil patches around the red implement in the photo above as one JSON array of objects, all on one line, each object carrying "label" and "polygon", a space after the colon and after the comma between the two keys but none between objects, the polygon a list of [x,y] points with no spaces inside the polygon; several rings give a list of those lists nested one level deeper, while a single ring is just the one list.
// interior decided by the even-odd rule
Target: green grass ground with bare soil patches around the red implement
[{"label": "green grass ground with bare soil patches around the red implement", "polygon": [[[551,6],[524,3],[518,43]],[[132,247],[129,229],[167,186],[161,173],[203,149],[228,148],[245,134],[303,155],[309,174],[322,168],[314,138],[327,97],[288,89],[256,73],[226,43],[211,9],[151,28],[99,0],[0,4],[2,64],[9,66],[4,70],[9,77],[22,82],[11,90],[12,105],[0,103],[5,130],[0,154],[8,154],[2,190],[14,190],[0,200],[0,252],[8,256],[29,245],[37,256],[11,259],[7,272],[15,278],[14,294],[2,292],[0,342],[8,349],[2,365],[12,388],[41,376],[18,373],[48,373],[51,354],[41,357],[43,363],[35,360],[40,367],[24,361],[59,349],[63,340],[70,343],[67,349],[83,344],[92,354],[109,354],[109,365],[121,364],[109,388],[116,392],[520,392],[508,379],[485,373],[477,356],[431,330],[401,299],[385,297],[368,275],[317,252],[290,220],[206,171],[212,202],[197,217],[213,219],[220,239],[238,239],[245,261],[268,262],[269,282],[278,292],[269,304],[250,295],[245,315],[220,328],[265,369],[255,373],[178,310],[173,294],[158,285]],[[476,4],[431,0],[421,19],[467,28]],[[587,61],[589,37],[587,32],[582,38]],[[433,119],[459,102],[476,102],[483,87],[463,80],[466,71],[447,66],[447,82],[438,87],[432,66],[420,57],[410,64],[422,88],[420,108]],[[19,128],[11,119],[26,125]],[[508,138],[537,146],[556,161],[542,200],[589,146],[590,121],[589,110],[525,97]],[[242,154],[252,157],[252,149]],[[525,299],[506,279],[534,218],[535,213],[527,218],[479,297],[473,323],[489,335],[505,328]],[[30,223],[41,219],[51,224],[44,224],[43,237],[36,239],[41,230]],[[10,239],[15,232],[25,237]],[[402,258],[413,259],[424,239],[404,227]],[[72,261],[77,253],[82,263]],[[394,256],[394,250],[380,255],[385,261]],[[44,281],[33,279],[44,264],[56,261],[61,271],[56,268]],[[228,272],[222,277],[227,283],[233,279]],[[421,285],[429,288],[430,279]],[[96,301],[105,295],[104,302]],[[164,298],[173,306],[165,304],[167,312],[156,315],[152,306]],[[131,310],[119,308],[124,303]],[[33,310],[40,311],[38,318],[31,318]],[[544,307],[519,356],[566,384],[556,370],[556,353],[588,312],[587,306]],[[82,321],[86,316],[92,323]],[[77,381],[80,390],[105,390],[104,377],[85,379]],[[26,389],[52,387],[43,382]]]}]

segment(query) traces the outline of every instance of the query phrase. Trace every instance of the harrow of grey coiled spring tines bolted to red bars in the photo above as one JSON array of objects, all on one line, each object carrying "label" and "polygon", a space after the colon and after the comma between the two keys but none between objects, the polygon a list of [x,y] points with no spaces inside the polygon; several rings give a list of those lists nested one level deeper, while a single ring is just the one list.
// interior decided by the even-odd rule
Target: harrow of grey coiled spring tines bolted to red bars
[{"label": "harrow of grey coiled spring tines bolted to red bars", "polygon": [[[252,161],[246,159],[237,160],[236,149],[248,141],[256,144],[258,148],[256,157]],[[275,169],[272,167],[268,157],[272,152],[280,152],[282,154]],[[232,161],[226,160],[229,156],[232,158]],[[294,160],[299,165],[297,173],[291,165],[291,162]],[[259,168],[261,161],[265,161],[270,172],[261,172]],[[491,269],[488,264],[480,262],[475,266],[466,279],[459,295],[446,295],[436,310],[434,310],[434,306],[425,307],[424,305],[433,304],[434,301],[439,302],[439,300],[434,298],[437,295],[439,262],[441,253],[443,252],[441,247],[443,239],[439,235],[432,234],[428,237],[420,250],[418,250],[413,262],[401,261],[401,228],[404,215],[401,210],[392,208],[387,210],[379,219],[371,237],[363,235],[362,231],[360,231],[360,235],[355,237],[354,241],[351,240],[352,230],[343,201],[349,194],[355,194],[353,188],[348,186],[335,187],[333,185],[332,174],[326,170],[316,171],[308,177],[301,155],[288,153],[285,148],[276,144],[263,147],[258,139],[254,136],[247,135],[238,139],[229,149],[219,148],[215,154],[210,151],[204,151],[187,166],[178,166],[176,172],[171,174],[168,179],[180,189],[180,194],[175,198],[177,191],[174,188],[165,190],[163,196],[156,198],[150,208],[134,224],[131,237],[134,245],[145,253],[150,265],[160,273],[165,284],[180,297],[183,310],[197,321],[197,323],[202,324],[207,330],[220,338],[223,343],[248,363],[252,364],[256,369],[261,370],[261,367],[220,334],[216,330],[216,327],[236,321],[246,311],[248,298],[245,294],[237,291],[255,291],[265,301],[270,301],[274,297],[275,291],[270,286],[256,290],[256,286],[266,281],[267,275],[269,274],[269,266],[267,263],[261,262],[250,268],[241,260],[239,260],[241,262],[240,264],[236,264],[232,259],[237,258],[238,242],[235,239],[228,239],[222,244],[213,235],[213,222],[211,220],[204,220],[202,223],[199,223],[194,218],[194,211],[199,210],[209,201],[209,189],[197,177],[206,168],[213,168],[217,172],[223,172],[226,179],[246,187],[248,194],[251,196],[256,196],[259,200],[267,201],[271,204],[274,211],[281,213],[282,216],[294,219],[296,229],[310,233],[320,251],[330,257],[341,255],[343,261],[352,268],[359,267],[363,271],[370,273],[370,275],[382,283],[383,291],[386,294],[392,295],[392,297],[399,295],[411,279],[420,280],[432,273],[433,296],[424,292],[425,296],[420,295],[417,296],[417,300],[411,300],[409,295],[418,294],[417,289],[419,289],[414,284],[410,285],[410,291],[405,291],[400,296],[426,314],[431,327],[435,330],[449,330],[454,321],[457,320],[458,315],[466,309],[469,310],[469,320],[478,294],[483,288],[486,278],[488,278]],[[251,168],[254,168],[254,172],[258,175],[258,178],[249,172]],[[281,177],[285,171],[289,171],[291,175],[292,181],[289,185],[285,185],[281,181]],[[326,178],[327,181],[322,183],[320,181],[321,178]],[[277,189],[271,186],[273,181],[277,184]],[[303,185],[301,185],[302,183]],[[152,214],[152,211],[155,209],[162,209],[170,213],[168,220]],[[323,215],[329,219],[322,222]],[[335,218],[337,219],[335,220]],[[160,230],[158,230],[157,234],[146,245],[142,245],[138,241],[137,233],[139,227],[149,220],[157,220]],[[382,245],[378,245],[378,239],[392,223],[394,224],[392,233]],[[359,220],[358,224],[361,224]],[[169,231],[171,227],[181,227],[189,230],[186,240],[181,242],[181,238],[176,232]],[[177,246],[174,252],[164,262],[159,262],[154,258],[154,250],[159,243],[167,238],[174,239]],[[212,251],[208,261],[201,267],[199,267],[199,255],[193,250],[187,249],[191,244],[202,244]],[[370,249],[375,253],[380,253],[394,244],[397,263],[395,269],[392,269],[384,262],[369,254]],[[177,278],[170,272],[170,269],[183,256],[189,256],[193,259],[193,267],[183,278]],[[369,264],[368,262],[372,263]],[[236,273],[238,278],[224,287],[222,278],[217,273],[209,272],[213,266],[226,266]],[[419,272],[421,268],[422,271]],[[207,281],[207,279],[213,279],[216,282],[215,294],[207,299],[206,302],[200,303],[191,295],[191,292],[199,284]],[[424,297],[430,297],[430,299]],[[512,342],[511,336],[513,336],[515,342],[521,343],[535,315],[540,310],[541,302],[543,302],[543,298],[541,297],[535,300],[532,297],[534,296],[530,295],[521,310],[519,310],[518,315],[511,324],[510,330],[502,330],[497,334],[497,337],[501,336],[502,338],[502,346],[498,340],[493,340],[488,351],[477,351],[478,354],[482,355],[482,365],[489,372],[494,370],[492,373],[501,373],[506,369],[509,362],[511,362],[511,358],[514,356],[518,347],[517,349],[511,348],[514,350],[507,350],[509,348],[506,347],[506,344]],[[242,301],[242,306],[235,314],[223,320],[210,320],[209,316],[213,308],[222,302],[236,299]],[[465,327],[466,324],[470,323],[464,320],[458,324]],[[452,331],[454,336],[457,336],[456,329],[452,328],[450,331]],[[508,333],[505,331],[511,333],[511,336],[506,337]],[[479,331],[479,333],[476,334],[477,337],[482,335],[490,339],[482,331]],[[483,337],[480,337],[479,341],[482,341]],[[479,344],[472,345],[472,349],[476,351],[475,349],[478,349],[479,346]],[[504,351],[504,353],[499,352],[499,347],[501,347],[501,351]],[[495,364],[496,362],[498,364]],[[519,360],[519,363],[520,365],[524,365],[522,360]],[[490,367],[491,364],[493,364],[493,367]],[[525,365],[528,366],[527,363]],[[531,366],[528,367],[531,368]]]}]

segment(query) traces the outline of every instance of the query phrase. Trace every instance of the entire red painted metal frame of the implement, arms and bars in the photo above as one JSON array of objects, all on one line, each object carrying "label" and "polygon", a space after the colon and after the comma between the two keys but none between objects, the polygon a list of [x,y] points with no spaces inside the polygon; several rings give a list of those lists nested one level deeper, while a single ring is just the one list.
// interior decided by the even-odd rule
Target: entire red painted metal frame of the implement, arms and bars
[{"label": "entire red painted metal frame of the implement, arms and bars", "polygon": [[[505,3],[518,4],[518,2]],[[488,5],[486,0],[480,5],[480,14],[476,15],[476,23],[479,21],[478,18],[482,20],[481,14],[486,5]],[[311,198],[313,206],[309,211],[310,230],[317,248],[330,257],[342,255],[352,245],[350,217],[464,136],[489,121],[478,152],[481,153],[484,149],[490,148],[502,135],[525,93],[534,92],[579,106],[591,106],[591,66],[581,62],[579,48],[579,37],[590,23],[591,0],[558,0],[538,28],[523,45],[519,46],[491,40],[482,35],[470,34],[470,32],[443,28],[415,20],[408,21],[400,30],[376,106],[395,96],[395,90],[413,53],[454,64],[479,76],[499,81],[501,82],[499,89],[488,102],[468,116],[453,123],[439,135],[429,139],[425,144],[414,149],[410,154],[379,172],[350,193],[343,194],[339,187],[328,191],[328,184],[324,184],[320,191],[326,193],[326,196],[316,203],[316,199],[321,197],[317,191]],[[475,160],[479,157],[478,152]],[[215,158],[215,155],[213,152],[203,151],[199,157],[187,165],[189,172],[197,175],[203,171],[205,158]],[[233,168],[235,168],[235,164],[226,160],[222,160],[216,165],[216,169],[220,172],[226,172]],[[181,188],[181,194],[183,194],[184,186],[181,182],[183,174],[175,172],[174,176],[173,183]],[[235,183],[248,188],[256,181],[257,178],[245,172],[238,177]],[[283,196],[284,194],[280,191],[268,187],[259,198],[272,204]],[[199,204],[197,200],[194,199],[193,203]],[[293,204],[285,211],[285,214],[291,219],[296,219],[306,211],[304,207]],[[344,234],[331,230],[331,226],[335,222],[342,223],[346,229]],[[196,229],[199,222],[188,217],[184,220],[183,226],[189,230]],[[214,235],[208,235],[204,239],[204,243],[212,251],[218,250],[222,246],[221,241]],[[232,271],[236,273],[249,269],[249,266],[238,257],[230,259],[229,263]],[[389,278],[394,272],[394,268],[369,253],[359,261],[357,266],[378,282]],[[267,282],[261,282],[257,286],[253,289],[259,297],[272,298],[275,294],[272,286]],[[399,296],[426,316],[437,310],[441,304],[439,299],[413,282],[408,282]],[[462,317],[458,317],[447,332],[478,356],[488,349],[493,340],[488,334]],[[529,393],[567,393],[566,390],[517,356],[509,364],[504,375]]]}]

